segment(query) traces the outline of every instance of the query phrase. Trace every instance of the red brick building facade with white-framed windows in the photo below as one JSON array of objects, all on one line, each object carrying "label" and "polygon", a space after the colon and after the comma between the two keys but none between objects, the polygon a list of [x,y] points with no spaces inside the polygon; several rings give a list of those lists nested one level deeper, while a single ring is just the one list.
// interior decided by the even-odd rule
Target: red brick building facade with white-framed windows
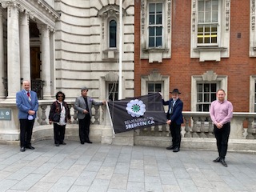
[{"label": "red brick building facade with white-framed windows", "polygon": [[135,0],[134,95],[178,88],[183,110],[207,111],[226,90],[254,112],[255,1]]}]

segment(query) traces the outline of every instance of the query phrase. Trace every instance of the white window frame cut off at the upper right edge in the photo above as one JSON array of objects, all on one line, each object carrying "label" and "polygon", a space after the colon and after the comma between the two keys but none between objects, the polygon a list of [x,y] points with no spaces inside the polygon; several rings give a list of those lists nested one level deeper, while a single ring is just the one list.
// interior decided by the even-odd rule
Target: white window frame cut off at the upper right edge
[{"label": "white window frame cut off at the upper right edge", "polygon": [[256,57],[256,2],[250,0],[250,57]]}]

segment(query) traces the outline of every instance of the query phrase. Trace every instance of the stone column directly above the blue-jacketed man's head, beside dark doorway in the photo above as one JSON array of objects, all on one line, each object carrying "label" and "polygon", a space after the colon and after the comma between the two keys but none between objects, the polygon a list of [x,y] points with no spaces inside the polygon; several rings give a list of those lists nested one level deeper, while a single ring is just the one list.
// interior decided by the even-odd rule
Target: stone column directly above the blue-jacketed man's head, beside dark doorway
[{"label": "stone column directly above the blue-jacketed man's head, beside dark doorway", "polygon": [[22,14],[20,25],[21,78],[30,81],[30,26],[29,14]]}]

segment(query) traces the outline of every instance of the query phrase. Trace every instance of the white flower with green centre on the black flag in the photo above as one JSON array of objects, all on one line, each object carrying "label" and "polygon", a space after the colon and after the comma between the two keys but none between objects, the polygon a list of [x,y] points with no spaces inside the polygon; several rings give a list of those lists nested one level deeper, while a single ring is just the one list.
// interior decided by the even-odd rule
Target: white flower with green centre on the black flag
[{"label": "white flower with green centre on the black flag", "polygon": [[127,103],[126,110],[132,117],[138,118],[145,113],[145,107],[146,105],[141,100],[135,99]]}]

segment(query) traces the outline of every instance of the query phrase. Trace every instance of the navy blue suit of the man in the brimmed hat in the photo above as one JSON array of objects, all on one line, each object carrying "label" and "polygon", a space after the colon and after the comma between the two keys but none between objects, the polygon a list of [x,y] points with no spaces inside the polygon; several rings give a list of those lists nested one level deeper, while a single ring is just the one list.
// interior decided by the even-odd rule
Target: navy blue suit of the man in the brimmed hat
[{"label": "navy blue suit of the man in the brimmed hat", "polygon": [[166,118],[171,120],[170,122],[170,134],[172,136],[172,142],[174,148],[181,146],[182,136],[181,136],[181,124],[183,123],[183,102],[179,98],[176,100],[173,106],[172,113],[170,114],[170,108],[173,98],[170,98],[169,101],[165,101],[162,99],[162,105],[169,106],[166,114]]}]

